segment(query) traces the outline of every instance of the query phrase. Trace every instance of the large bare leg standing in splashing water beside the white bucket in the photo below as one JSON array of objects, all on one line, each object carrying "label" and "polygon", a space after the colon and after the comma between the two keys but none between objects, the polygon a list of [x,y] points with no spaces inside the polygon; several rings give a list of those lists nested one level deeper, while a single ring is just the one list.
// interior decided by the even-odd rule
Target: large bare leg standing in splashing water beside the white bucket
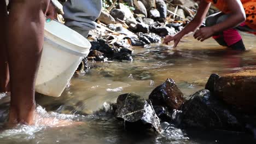
[{"label": "large bare leg standing in splashing water beside the white bucket", "polygon": [[15,0],[10,6],[7,37],[11,88],[10,124],[33,123],[34,83],[43,48],[45,13],[49,2],[50,0]]}]

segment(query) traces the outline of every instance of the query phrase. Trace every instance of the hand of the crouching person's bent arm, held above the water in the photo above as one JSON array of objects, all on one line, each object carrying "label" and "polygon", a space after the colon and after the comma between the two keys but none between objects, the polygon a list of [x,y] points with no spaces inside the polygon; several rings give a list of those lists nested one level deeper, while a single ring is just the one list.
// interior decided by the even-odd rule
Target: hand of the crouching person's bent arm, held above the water
[{"label": "hand of the crouching person's bent arm, held above the water", "polygon": [[206,40],[210,38],[214,34],[212,27],[203,27],[200,29],[197,29],[197,31],[194,34],[194,38],[200,41]]}]

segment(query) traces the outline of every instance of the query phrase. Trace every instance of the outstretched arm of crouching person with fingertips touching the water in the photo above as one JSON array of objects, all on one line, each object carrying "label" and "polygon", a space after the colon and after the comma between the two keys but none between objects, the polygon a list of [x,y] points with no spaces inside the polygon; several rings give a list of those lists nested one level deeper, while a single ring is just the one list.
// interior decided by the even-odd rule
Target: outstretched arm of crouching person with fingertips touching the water
[{"label": "outstretched arm of crouching person with fingertips touching the water", "polygon": [[167,35],[164,40],[164,44],[168,44],[170,41],[174,41],[174,46],[176,47],[181,40],[181,38],[190,33],[194,32],[195,29],[197,29],[203,22],[203,19],[205,19],[207,11],[210,8],[211,3],[207,3],[205,1],[201,1],[199,4],[199,9],[197,10],[197,13],[193,20],[191,20],[187,26],[185,26],[181,32],[177,33],[176,35]]}]

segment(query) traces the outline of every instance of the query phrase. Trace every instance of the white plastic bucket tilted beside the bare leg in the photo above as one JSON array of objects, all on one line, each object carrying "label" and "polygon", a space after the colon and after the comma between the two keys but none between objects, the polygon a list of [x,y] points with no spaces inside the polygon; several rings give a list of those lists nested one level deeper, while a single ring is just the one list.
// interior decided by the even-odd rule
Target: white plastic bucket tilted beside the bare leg
[{"label": "white plastic bucket tilted beside the bare leg", "polygon": [[59,97],[90,47],[86,38],[60,22],[46,22],[36,92]]}]

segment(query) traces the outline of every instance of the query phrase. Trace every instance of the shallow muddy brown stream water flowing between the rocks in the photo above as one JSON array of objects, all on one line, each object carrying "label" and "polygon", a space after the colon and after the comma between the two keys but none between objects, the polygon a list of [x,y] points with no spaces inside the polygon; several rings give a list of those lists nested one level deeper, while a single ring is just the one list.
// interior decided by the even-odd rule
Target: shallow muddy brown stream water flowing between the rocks
[{"label": "shallow muddy brown stream water flowing between the rocks", "polygon": [[[212,39],[201,43],[191,35],[177,49],[167,46],[134,48],[133,62],[96,62],[85,75],[74,75],[59,98],[37,94],[37,111],[43,117],[79,121],[68,127],[18,125],[6,129],[8,99],[0,94],[0,143],[253,143],[253,137],[231,131],[183,130],[162,123],[164,131],[129,132],[108,115],[93,115],[118,95],[136,93],[144,98],[167,78],[176,81],[187,97],[202,89],[212,73],[225,74],[241,69],[256,69],[255,36],[243,33],[247,51],[237,53],[220,47]],[[58,114],[58,113],[65,113]],[[85,114],[86,113],[86,114]],[[73,115],[74,114],[74,115]],[[77,115],[84,114],[84,115]],[[1,126],[2,125],[2,126]]]}]

